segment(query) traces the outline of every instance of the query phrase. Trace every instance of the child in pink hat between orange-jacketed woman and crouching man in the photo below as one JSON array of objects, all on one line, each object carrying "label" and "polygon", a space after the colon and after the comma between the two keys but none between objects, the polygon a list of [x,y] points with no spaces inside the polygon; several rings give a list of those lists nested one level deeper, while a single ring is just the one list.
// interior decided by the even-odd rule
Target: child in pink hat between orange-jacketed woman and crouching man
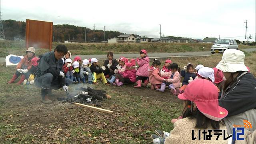
[{"label": "child in pink hat between orange-jacketed woman and crouching man", "polygon": [[[34,57],[31,59],[31,63],[32,63],[32,66],[30,68],[30,70],[28,70],[27,74],[25,74],[25,80],[23,81],[23,84],[34,84],[34,81],[31,82],[32,80],[34,80],[34,73],[36,72],[36,68],[38,66],[38,60],[39,58],[37,57]],[[31,74],[33,75],[31,77]]]}]

